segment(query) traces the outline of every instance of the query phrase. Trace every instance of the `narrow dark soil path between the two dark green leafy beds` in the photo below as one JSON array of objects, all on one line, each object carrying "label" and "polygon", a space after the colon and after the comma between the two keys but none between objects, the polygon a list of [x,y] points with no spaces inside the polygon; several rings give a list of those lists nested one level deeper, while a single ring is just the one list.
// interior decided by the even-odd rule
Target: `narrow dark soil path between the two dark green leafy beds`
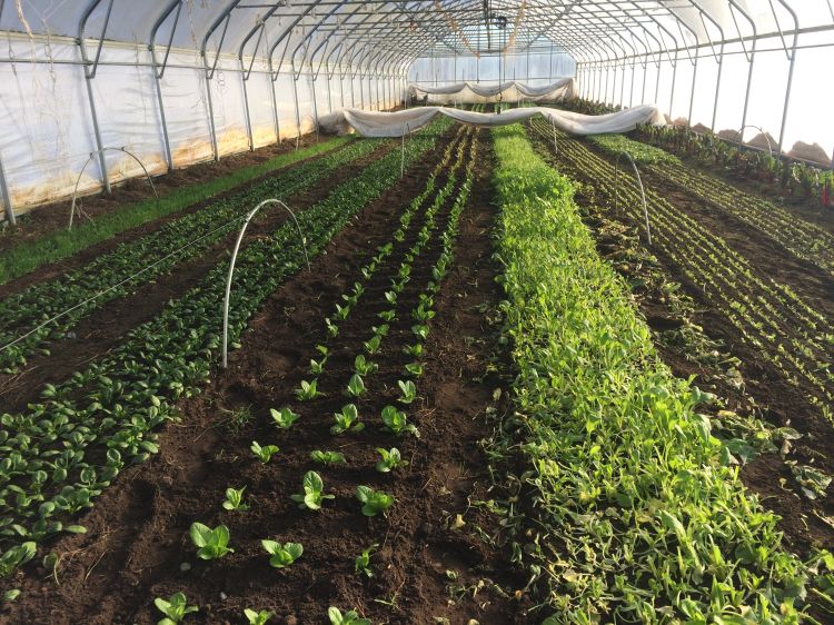
[{"label": "narrow dark soil path between the two dark green leafy beds", "polygon": [[[370,155],[340,167],[312,189],[294,196],[288,204],[296,211],[309,208],[393,148],[393,142],[379,146]],[[247,229],[246,241],[255,241],[269,235],[286,220],[287,214],[281,210],[261,212]],[[158,226],[159,222],[156,224]],[[61,339],[50,344],[49,355],[31,357],[20,373],[0,374],[0,400],[3,410],[14,411],[24,408],[27,403],[39,397],[44,384],[67,379],[86,364],[119,345],[128,331],[155,317],[169,300],[181,296],[225,258],[237,236],[237,230],[229,232],[197,258],[177,265],[171,274],[160,276],[142,285],[131,295],[106,304],[73,328],[75,339]]]}]

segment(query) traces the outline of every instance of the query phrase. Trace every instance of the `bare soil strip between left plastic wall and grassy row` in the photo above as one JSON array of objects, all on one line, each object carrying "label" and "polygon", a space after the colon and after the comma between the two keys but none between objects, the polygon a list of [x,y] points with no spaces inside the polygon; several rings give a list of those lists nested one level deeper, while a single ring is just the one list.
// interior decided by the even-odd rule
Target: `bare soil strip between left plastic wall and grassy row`
[{"label": "bare soil strip between left plastic wall and grassy row", "polygon": [[[299,147],[316,143],[316,135],[305,135]],[[288,139],[280,143],[264,146],[255,151],[246,151],[224,157],[218,162],[208,161],[192,165],[185,169],[175,169],[170,173],[153,177],[153,186],[160,197],[179,187],[195,185],[226,176],[240,168],[258,165],[270,158],[296,149],[296,140]],[[107,212],[121,210],[128,205],[153,197],[148,179],[131,178],[112,187],[112,194],[103,192],[82,198],[83,211],[91,218]],[[71,200],[39,206],[17,218],[16,227],[0,230],[0,251],[26,241],[34,241],[43,235],[67,227]]]}]

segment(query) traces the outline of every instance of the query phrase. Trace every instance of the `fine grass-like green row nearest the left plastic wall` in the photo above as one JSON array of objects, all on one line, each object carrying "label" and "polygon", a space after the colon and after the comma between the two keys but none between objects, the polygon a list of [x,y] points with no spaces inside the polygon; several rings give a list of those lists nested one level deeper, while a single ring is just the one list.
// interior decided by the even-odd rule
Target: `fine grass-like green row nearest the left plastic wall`
[{"label": "fine grass-like green row nearest the left plastic wall", "polygon": [[0,258],[0,284],[24,276],[43,265],[78,254],[131,228],[178,212],[281,167],[329,152],[349,140],[351,139],[337,137],[309,148],[279,155],[265,162],[238,169],[228,176],[178,188],[160,197],[158,202],[155,198],[145,199],[97,217],[95,221],[79,224],[72,230],[60,229],[36,241],[19,244],[4,251],[2,258]]}]

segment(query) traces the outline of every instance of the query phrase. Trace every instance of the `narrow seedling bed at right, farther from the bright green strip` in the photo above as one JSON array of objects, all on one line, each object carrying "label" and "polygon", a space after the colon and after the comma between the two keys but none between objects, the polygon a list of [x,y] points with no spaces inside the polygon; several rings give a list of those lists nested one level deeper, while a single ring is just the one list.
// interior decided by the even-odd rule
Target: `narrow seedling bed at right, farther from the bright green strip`
[{"label": "narrow seedling bed at right, farther from the bright green strip", "polygon": [[647,166],[648,171],[737,217],[797,258],[834,274],[834,236],[805,221],[795,211],[745,194],[715,176],[686,167],[677,157],[659,148],[622,135],[593,137],[592,142],[614,157],[622,151],[628,152],[635,161]]}]

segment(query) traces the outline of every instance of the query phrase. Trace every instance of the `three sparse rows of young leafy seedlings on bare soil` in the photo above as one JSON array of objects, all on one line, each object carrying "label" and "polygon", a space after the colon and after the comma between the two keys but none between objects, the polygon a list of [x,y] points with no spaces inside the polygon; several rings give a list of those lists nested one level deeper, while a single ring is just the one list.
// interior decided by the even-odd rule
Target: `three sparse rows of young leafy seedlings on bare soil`
[{"label": "three sparse rows of young leafy seedlings on bare soil", "polygon": [[[380,318],[384,318],[383,320],[394,321],[398,315],[405,320],[406,311],[400,310],[404,299],[395,298],[396,300],[391,301],[389,294],[394,292],[399,295],[404,292],[405,285],[411,281],[411,269],[415,261],[429,252],[429,242],[438,242],[439,252],[431,265],[431,274],[430,277],[427,278],[428,284],[425,285],[425,288],[419,289],[420,292],[417,297],[417,305],[410,310],[409,315],[413,320],[425,325],[425,330],[419,333],[417,341],[425,340],[425,336],[427,336],[430,318],[434,317],[431,310],[433,297],[439,290],[450,267],[451,255],[457,239],[459,217],[471,189],[477,146],[473,143],[465,179],[461,183],[458,183],[457,178],[459,169],[465,161],[466,147],[469,142],[468,138],[470,130],[467,130],[461,135],[463,138],[459,143],[456,145],[453,142],[446,150],[441,161],[437,165],[435,172],[427,181],[424,191],[409,204],[400,216],[400,227],[394,232],[391,240],[377,248],[376,254],[360,269],[360,275],[357,277],[356,284],[358,285],[360,284],[359,280],[369,279],[366,275],[369,267],[373,267],[370,270],[371,274],[385,270],[386,274],[388,274],[387,277],[390,280],[391,290],[386,291],[385,295],[379,294],[381,299],[380,302],[365,302],[364,306],[381,304],[384,308],[383,312],[389,312],[389,315],[380,314]],[[455,162],[449,166],[448,163],[451,158],[455,159]],[[436,190],[437,175],[441,171],[448,173],[448,179],[439,190]],[[457,192],[454,196],[454,199],[448,201],[451,194],[455,194],[455,191]],[[391,250],[401,247],[399,244],[405,241],[406,235],[409,231],[409,224],[414,221],[414,218],[418,215],[419,208],[424,204],[427,205],[424,212],[424,222],[416,234],[414,244],[408,246],[407,249],[400,250],[404,252],[401,262],[398,265],[387,262],[386,259],[391,256]],[[448,212],[444,210],[444,207],[447,207],[447,205],[450,205],[448,206]],[[438,219],[441,219],[443,214],[446,215],[446,224],[438,241],[436,230],[438,228]],[[379,255],[383,252],[387,254],[384,259],[379,259]],[[361,292],[364,292],[364,290]],[[348,290],[342,294],[340,299],[346,302],[346,306],[359,306],[358,300],[354,301],[351,299],[355,294],[356,288],[354,288],[353,291]],[[346,321],[348,317],[346,316],[339,318],[339,321]],[[387,331],[376,334],[375,328],[375,336],[378,336],[381,341],[389,335]],[[337,333],[335,336],[331,336],[331,338],[334,340],[339,340],[342,337]],[[319,351],[321,351],[320,347],[321,346],[317,346]],[[353,374],[350,381],[342,388],[332,389],[330,395],[347,395],[348,398],[357,399],[366,394],[371,394],[373,390],[365,386],[363,377],[369,379],[373,374],[378,370],[379,365],[373,363],[371,358],[379,356],[380,348],[381,345],[379,341],[371,346],[368,346],[366,343],[363,346],[364,353],[356,357],[357,369],[356,373]],[[327,354],[325,353],[325,360]],[[324,367],[325,363],[322,361],[320,365]],[[317,369],[317,376],[322,373],[322,368],[315,366],[314,368]],[[386,406],[380,416],[381,429],[395,437],[394,440],[406,435],[419,436],[417,428],[408,423],[404,411],[404,409],[407,409],[416,399],[416,386],[413,381],[409,381],[400,383],[399,387],[400,395],[395,403],[397,405]],[[268,444],[261,444],[258,442],[252,443],[252,455],[249,462],[251,463],[251,466],[255,467],[254,470],[260,473],[265,465],[276,463],[280,464],[281,447],[297,448],[297,444],[294,444],[292,442],[294,434],[298,431],[296,424],[304,424],[305,420],[308,418],[312,419],[320,413],[320,410],[317,409],[315,401],[321,395],[321,390],[317,387],[317,379],[302,383],[301,387],[296,390],[298,405],[294,405],[298,413],[294,411],[290,406],[270,410],[272,425],[275,426],[274,435],[270,437]],[[398,406],[401,406],[403,409]],[[357,449],[357,443],[363,443],[363,436],[359,434],[365,430],[365,426],[366,421],[360,419],[359,409],[353,403],[346,404],[339,413],[334,414],[334,425],[330,428],[330,434],[332,435],[334,440],[336,440],[335,437],[355,437],[354,444],[342,445],[342,448],[350,448],[351,453],[346,454],[326,449],[314,449],[310,453],[308,466],[301,466],[300,468],[294,467],[292,469],[304,472],[300,479],[299,492],[294,494],[281,494],[281,496],[291,499],[298,504],[299,508],[307,510],[309,514],[316,514],[322,508],[331,507],[331,502],[337,498],[337,495],[329,492],[327,487],[327,484],[330,482],[329,475],[339,470],[340,466],[356,466],[356,457],[361,456],[361,452]],[[383,475],[390,476],[381,484],[381,486],[385,487],[385,484],[390,484],[391,477],[396,477],[397,473],[401,470],[403,467],[408,466],[409,463],[408,459],[403,457],[397,447],[391,447],[390,449],[378,447],[376,448],[376,452],[379,458],[375,465],[377,474],[380,478]],[[257,489],[258,480],[255,482],[255,488]],[[227,558],[236,560],[235,564],[237,564],[240,562],[240,558],[251,557],[250,555],[236,555],[235,552],[237,550],[241,554],[258,554],[256,557],[268,559],[270,566],[275,568],[287,568],[294,566],[299,558],[305,558],[310,555],[312,547],[292,542],[294,537],[291,528],[286,528],[284,532],[284,540],[289,538],[287,542],[274,540],[271,538],[238,536],[236,530],[237,524],[244,522],[241,515],[247,514],[247,510],[250,507],[249,502],[260,500],[262,499],[261,496],[275,497],[275,492],[272,489],[274,483],[270,480],[269,485],[270,489],[268,493],[261,493],[258,490],[247,493],[246,487],[235,488],[234,486],[226,489],[226,499],[221,503],[222,510],[219,509],[219,507],[214,508],[214,510],[208,512],[208,514],[203,516],[203,520],[208,520],[210,525],[206,525],[202,522],[195,522],[191,525],[189,536],[198,558],[208,562],[218,560],[216,563],[212,562],[209,566],[224,566],[222,560]],[[388,510],[395,506],[397,502],[391,494],[387,493],[379,486],[380,485],[368,486],[365,484],[356,486],[355,496],[358,500],[358,504],[356,505],[357,514],[367,517],[388,515]],[[219,499],[220,493],[218,493],[218,500]],[[238,537],[236,538],[236,536]],[[354,569],[357,575],[367,575],[370,577],[376,574],[371,555],[376,545],[365,549],[361,554],[356,556]],[[251,562],[249,563],[249,566],[252,566]],[[160,602],[158,598],[155,603],[162,612],[169,609],[171,603],[180,603],[185,605],[185,596],[181,594],[180,596],[172,596],[171,599],[176,599],[176,602],[171,602],[170,599],[166,601],[165,598]],[[197,606],[192,606],[192,611],[196,609]],[[344,619],[339,619],[339,611],[336,609],[336,612],[334,612],[335,609],[336,608],[330,607],[328,611],[328,617],[332,623],[345,623]],[[255,611],[249,612],[251,613],[249,616],[250,618],[257,616]],[[266,611],[262,611],[260,614],[265,613]],[[166,614],[168,613],[166,612]],[[368,625],[370,623],[367,619],[359,618],[355,612],[349,612],[348,615],[353,615],[350,616],[353,618],[353,621],[349,621],[350,623],[366,623]]]}]

